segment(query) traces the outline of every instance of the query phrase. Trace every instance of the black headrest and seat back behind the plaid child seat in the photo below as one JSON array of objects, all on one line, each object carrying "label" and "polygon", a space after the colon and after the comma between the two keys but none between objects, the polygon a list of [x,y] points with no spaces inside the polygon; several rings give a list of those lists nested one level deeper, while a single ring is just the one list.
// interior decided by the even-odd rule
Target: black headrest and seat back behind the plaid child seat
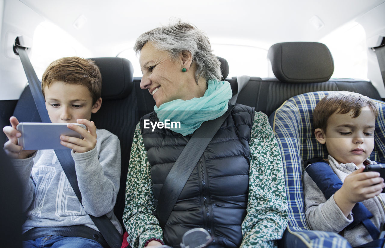
[{"label": "black headrest and seat back behind the plaid child seat", "polygon": [[290,97],[306,92],[347,90],[382,100],[370,81],[330,80],[333,58],[322,43],[277,43],[269,48],[268,58],[276,78],[251,77],[239,92],[236,103],[254,107],[269,116]]}]

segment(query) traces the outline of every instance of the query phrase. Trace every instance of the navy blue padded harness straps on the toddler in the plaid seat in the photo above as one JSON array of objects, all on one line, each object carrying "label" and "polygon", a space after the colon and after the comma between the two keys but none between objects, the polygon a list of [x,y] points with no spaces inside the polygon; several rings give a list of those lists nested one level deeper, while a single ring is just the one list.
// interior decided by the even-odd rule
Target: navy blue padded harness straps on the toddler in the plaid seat
[{"label": "navy blue padded harness straps on the toddler in the plaid seat", "polygon": [[[324,161],[312,163],[311,165],[308,165],[305,170],[318,188],[320,188],[326,199],[329,199],[342,187],[341,179],[338,178],[333,169],[330,168],[329,164]],[[362,202],[358,202],[354,205],[352,213],[354,216],[353,222],[346,226],[346,230],[350,230],[362,222],[373,240],[378,239],[380,231],[373,222],[369,220],[369,218],[373,217],[373,214],[370,213]]]}]

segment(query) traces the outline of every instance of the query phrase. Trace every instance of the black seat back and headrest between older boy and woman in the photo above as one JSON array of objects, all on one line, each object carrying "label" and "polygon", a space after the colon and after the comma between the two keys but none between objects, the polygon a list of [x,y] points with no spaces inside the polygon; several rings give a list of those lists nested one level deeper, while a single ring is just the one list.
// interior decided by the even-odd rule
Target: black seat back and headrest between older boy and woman
[{"label": "black seat back and headrest between older boy and woman", "polygon": [[[97,128],[109,130],[118,136],[121,143],[121,182],[114,213],[123,225],[123,210],[126,196],[126,180],[132,138],[140,118],[154,110],[155,101],[133,80],[131,62],[124,58],[93,58],[102,73],[102,107],[92,114]],[[113,89],[116,87],[117,89]]]}]

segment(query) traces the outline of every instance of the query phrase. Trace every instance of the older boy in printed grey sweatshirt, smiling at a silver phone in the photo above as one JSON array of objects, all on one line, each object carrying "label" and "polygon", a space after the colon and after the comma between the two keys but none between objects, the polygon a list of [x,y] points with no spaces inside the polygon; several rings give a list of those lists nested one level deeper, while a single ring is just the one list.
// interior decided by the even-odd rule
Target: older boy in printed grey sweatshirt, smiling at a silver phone
[{"label": "older boy in printed grey sweatshirt, smiling at a silver phone", "polygon": [[[107,130],[96,129],[94,122],[90,122],[91,113],[96,113],[102,104],[101,87],[99,68],[93,61],[79,57],[52,62],[42,77],[42,92],[51,122],[68,123],[68,128],[84,137],[60,136],[60,143],[72,149],[82,205],[53,150],[23,150],[17,143],[21,133],[16,130],[15,117],[10,118],[12,126],[3,128],[9,139],[4,150],[14,158],[13,165],[23,182],[23,211],[27,213],[22,227],[23,238],[27,240],[24,247],[53,244],[103,247],[101,235],[94,238],[95,235],[81,234],[89,233],[88,228],[92,232],[97,230],[88,214],[106,214],[122,234],[113,212],[121,171],[119,139]],[[71,123],[84,124],[88,131]],[[79,229],[75,229],[76,235],[65,233],[64,227],[75,225]],[[28,234],[31,229],[41,234],[38,237]],[[43,243],[45,246],[39,246]]]}]

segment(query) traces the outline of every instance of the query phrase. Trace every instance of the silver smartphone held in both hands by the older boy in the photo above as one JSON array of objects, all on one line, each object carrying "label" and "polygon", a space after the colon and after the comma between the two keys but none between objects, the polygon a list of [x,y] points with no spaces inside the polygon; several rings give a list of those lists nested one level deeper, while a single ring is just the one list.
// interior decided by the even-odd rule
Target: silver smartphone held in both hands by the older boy
[{"label": "silver smartphone held in both hands by the older boy", "polygon": [[[86,128],[83,124],[72,124]],[[67,123],[20,122],[16,129],[22,133],[17,142],[24,150],[69,149],[60,144],[60,135],[83,138],[67,128]]]}]

